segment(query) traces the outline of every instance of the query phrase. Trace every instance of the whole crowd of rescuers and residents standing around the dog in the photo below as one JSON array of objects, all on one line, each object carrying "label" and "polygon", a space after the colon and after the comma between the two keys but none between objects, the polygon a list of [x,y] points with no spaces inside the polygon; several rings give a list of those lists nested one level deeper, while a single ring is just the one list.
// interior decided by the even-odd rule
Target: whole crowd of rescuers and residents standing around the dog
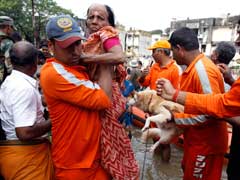
[{"label": "whole crowd of rescuers and residents standing around the dog", "polygon": [[[184,105],[184,113],[162,121],[184,132],[183,179],[221,179],[226,122],[233,127],[228,179],[240,179],[240,80],[228,68],[232,44],[220,42],[208,58],[195,32],[183,27],[146,47],[154,60],[147,66],[137,59],[126,66],[111,7],[91,5],[86,26],[82,32],[69,15],[52,17],[37,49],[22,40],[12,18],[0,16],[0,178],[140,179],[119,119],[126,97],[150,88]],[[170,143],[155,152],[164,162]]]}]

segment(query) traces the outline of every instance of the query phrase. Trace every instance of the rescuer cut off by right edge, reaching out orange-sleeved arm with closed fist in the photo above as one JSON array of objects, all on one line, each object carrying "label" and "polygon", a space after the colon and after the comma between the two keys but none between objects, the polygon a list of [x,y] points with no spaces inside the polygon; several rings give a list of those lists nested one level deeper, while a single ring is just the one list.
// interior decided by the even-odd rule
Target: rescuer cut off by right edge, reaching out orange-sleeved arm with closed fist
[{"label": "rescuer cut off by right edge, reaching out orange-sleeved arm with closed fist", "polygon": [[[171,86],[171,83],[167,79],[158,80],[157,92],[158,95],[161,95],[167,100],[173,100],[173,96],[175,96],[176,102],[184,105],[185,113],[207,114],[214,117],[224,118],[223,120],[233,125],[233,128],[235,129],[232,131],[233,134],[227,166],[227,175],[228,180],[237,180],[240,179],[240,78],[235,82],[232,77],[228,77],[227,79],[230,79],[230,81],[226,82],[232,85],[232,87],[224,94],[196,94],[178,91]],[[220,120],[222,119],[216,119],[216,121]],[[176,119],[175,123],[178,124]]]}]

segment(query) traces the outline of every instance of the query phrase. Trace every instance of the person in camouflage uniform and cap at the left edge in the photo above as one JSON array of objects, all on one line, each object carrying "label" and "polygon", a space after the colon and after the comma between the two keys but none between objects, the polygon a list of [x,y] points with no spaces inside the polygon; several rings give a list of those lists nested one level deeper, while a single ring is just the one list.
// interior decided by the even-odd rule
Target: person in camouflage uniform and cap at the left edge
[{"label": "person in camouflage uniform and cap at the left edge", "polygon": [[0,85],[12,70],[12,65],[9,60],[9,50],[14,43],[10,38],[10,34],[13,31],[13,19],[8,16],[0,16]]}]

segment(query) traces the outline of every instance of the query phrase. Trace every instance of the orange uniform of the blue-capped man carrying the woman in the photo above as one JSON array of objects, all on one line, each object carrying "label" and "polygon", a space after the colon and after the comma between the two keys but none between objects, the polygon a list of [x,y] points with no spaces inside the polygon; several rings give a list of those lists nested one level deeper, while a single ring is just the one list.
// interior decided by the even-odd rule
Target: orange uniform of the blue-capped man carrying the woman
[{"label": "orange uniform of the blue-capped man carrying the woman", "polygon": [[54,58],[42,67],[40,84],[52,121],[56,179],[108,179],[99,164],[99,110],[111,103],[105,92],[89,80],[84,67]]}]

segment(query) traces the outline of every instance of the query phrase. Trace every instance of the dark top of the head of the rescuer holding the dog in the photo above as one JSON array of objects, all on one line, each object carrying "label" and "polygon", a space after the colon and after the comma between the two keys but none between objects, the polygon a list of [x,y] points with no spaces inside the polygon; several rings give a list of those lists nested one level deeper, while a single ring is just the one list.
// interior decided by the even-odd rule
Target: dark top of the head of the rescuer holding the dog
[{"label": "dark top of the head of the rescuer holding the dog", "polygon": [[187,27],[182,27],[174,31],[168,41],[172,47],[180,45],[187,51],[199,49],[196,33]]}]

